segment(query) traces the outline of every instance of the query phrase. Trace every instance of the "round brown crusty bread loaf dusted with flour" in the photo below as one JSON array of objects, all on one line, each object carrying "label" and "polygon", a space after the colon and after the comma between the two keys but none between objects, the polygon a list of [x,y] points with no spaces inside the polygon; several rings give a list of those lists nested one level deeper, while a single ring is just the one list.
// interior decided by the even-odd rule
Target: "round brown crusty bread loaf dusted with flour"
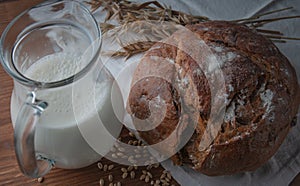
[{"label": "round brown crusty bread loaf dusted with flour", "polygon": [[[253,171],[277,151],[297,114],[296,72],[269,39],[244,25],[212,21],[185,28],[155,44],[135,70],[130,112],[155,123],[140,137],[150,145],[169,137],[160,150],[206,175]],[[205,47],[193,46],[192,37]],[[208,78],[218,68],[206,55],[217,59],[224,86]],[[222,98],[212,94],[214,86],[224,88]],[[223,114],[212,111],[213,100],[221,100]],[[218,116],[221,125],[214,127],[210,121]],[[189,129],[195,130],[181,147]],[[205,142],[207,131],[213,138]]]}]

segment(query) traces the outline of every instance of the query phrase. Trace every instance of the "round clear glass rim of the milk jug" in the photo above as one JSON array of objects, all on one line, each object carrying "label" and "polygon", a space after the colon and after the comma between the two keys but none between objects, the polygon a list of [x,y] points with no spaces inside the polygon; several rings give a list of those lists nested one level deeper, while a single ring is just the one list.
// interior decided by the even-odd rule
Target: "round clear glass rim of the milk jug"
[{"label": "round clear glass rim of the milk jug", "polygon": [[[96,29],[96,34],[97,34],[97,38],[96,40],[92,41],[99,41],[99,44],[97,45],[97,48],[95,49],[95,53],[93,55],[93,57],[91,58],[91,60],[89,61],[89,63],[82,68],[79,72],[73,74],[70,77],[64,78],[62,80],[59,81],[53,81],[53,82],[42,82],[42,81],[36,81],[34,79],[28,78],[26,76],[24,76],[21,72],[19,72],[17,69],[13,70],[11,69],[11,67],[8,65],[7,60],[4,57],[4,40],[7,37],[8,32],[11,30],[11,28],[15,25],[15,23],[22,17],[24,16],[26,13],[30,12],[31,10],[35,9],[35,8],[40,8],[43,6],[48,6],[48,5],[55,5],[55,4],[60,4],[60,3],[76,3],[79,5],[79,7],[84,10],[85,12],[87,12],[90,17],[92,18],[92,22],[93,25],[95,25],[95,29]],[[61,87],[61,86],[65,86],[68,84],[73,83],[74,81],[76,81],[76,79],[79,79],[80,77],[84,76],[93,66],[93,64],[96,62],[98,55],[100,53],[100,49],[101,49],[101,45],[102,45],[102,33],[101,30],[98,26],[98,23],[95,19],[95,17],[93,16],[93,14],[90,12],[90,10],[83,5],[83,3],[79,2],[79,1],[74,1],[74,0],[50,0],[50,1],[46,1],[46,2],[42,2],[40,4],[37,4],[35,6],[32,6],[31,8],[26,9],[25,11],[23,11],[22,13],[20,13],[19,15],[17,15],[4,29],[1,37],[0,37],[0,63],[3,67],[3,69],[5,70],[6,73],[8,73],[13,80],[17,80],[19,83],[25,85],[25,86],[29,86],[29,87],[34,87],[34,88],[39,88],[39,89],[44,89],[44,88],[55,88],[55,87]],[[91,44],[92,44],[91,43]]]}]

